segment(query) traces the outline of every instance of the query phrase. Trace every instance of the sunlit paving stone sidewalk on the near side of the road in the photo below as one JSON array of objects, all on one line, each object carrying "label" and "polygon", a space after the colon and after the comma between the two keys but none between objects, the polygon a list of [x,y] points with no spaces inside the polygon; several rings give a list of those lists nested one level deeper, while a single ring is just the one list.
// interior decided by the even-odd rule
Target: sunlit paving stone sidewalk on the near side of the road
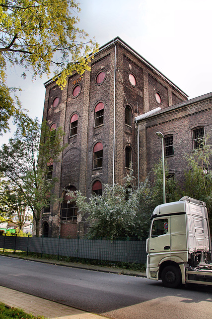
[{"label": "sunlit paving stone sidewalk on the near side of the road", "polygon": [[49,319],[105,319],[91,313],[0,286],[0,302]]}]

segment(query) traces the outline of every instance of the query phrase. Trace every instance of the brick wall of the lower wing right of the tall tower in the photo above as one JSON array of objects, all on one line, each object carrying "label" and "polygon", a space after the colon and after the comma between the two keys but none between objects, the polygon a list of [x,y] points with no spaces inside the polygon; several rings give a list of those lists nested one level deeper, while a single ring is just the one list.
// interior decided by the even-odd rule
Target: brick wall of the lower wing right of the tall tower
[{"label": "brick wall of the lower wing right of the tall tower", "polygon": [[164,137],[173,136],[174,152],[166,159],[170,173],[175,174],[176,180],[182,182],[187,168],[185,155],[192,153],[194,149],[193,130],[204,128],[205,136],[209,138],[207,143],[212,144],[212,93],[167,107],[138,123],[141,145],[140,179],[143,180],[158,159],[161,159],[161,138],[155,135],[159,131]]}]

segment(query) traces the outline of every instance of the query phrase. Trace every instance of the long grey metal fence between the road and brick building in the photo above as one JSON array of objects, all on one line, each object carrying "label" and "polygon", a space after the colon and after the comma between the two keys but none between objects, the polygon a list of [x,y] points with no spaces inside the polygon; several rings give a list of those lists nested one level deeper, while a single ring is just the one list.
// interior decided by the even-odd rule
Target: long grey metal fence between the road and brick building
[{"label": "long grey metal fence between the road and brick building", "polygon": [[0,248],[128,263],[146,263],[145,241],[0,236]]}]

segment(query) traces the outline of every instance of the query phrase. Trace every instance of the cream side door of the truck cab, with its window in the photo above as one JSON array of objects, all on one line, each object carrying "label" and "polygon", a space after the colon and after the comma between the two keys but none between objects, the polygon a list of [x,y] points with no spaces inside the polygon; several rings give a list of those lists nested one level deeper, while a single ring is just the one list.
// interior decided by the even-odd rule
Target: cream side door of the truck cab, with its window
[{"label": "cream side door of the truck cab, with its window", "polygon": [[153,219],[149,236],[149,267],[157,267],[160,260],[170,256],[170,217]]}]

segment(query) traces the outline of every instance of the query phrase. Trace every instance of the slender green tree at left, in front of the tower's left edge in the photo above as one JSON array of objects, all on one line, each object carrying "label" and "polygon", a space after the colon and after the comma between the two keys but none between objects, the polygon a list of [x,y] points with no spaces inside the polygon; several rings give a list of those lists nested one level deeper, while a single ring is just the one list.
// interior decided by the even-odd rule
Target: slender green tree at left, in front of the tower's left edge
[{"label": "slender green tree at left, in front of the tower's left edge", "polygon": [[38,119],[29,122],[25,135],[17,129],[8,145],[2,146],[0,172],[9,182],[10,189],[16,189],[16,195],[20,196],[25,207],[31,208],[36,236],[39,236],[41,210],[55,199],[51,190],[56,179],[47,179],[46,176],[50,172],[50,166],[59,159],[63,150],[61,141],[64,134],[60,128],[50,131],[46,122],[41,126]]}]

